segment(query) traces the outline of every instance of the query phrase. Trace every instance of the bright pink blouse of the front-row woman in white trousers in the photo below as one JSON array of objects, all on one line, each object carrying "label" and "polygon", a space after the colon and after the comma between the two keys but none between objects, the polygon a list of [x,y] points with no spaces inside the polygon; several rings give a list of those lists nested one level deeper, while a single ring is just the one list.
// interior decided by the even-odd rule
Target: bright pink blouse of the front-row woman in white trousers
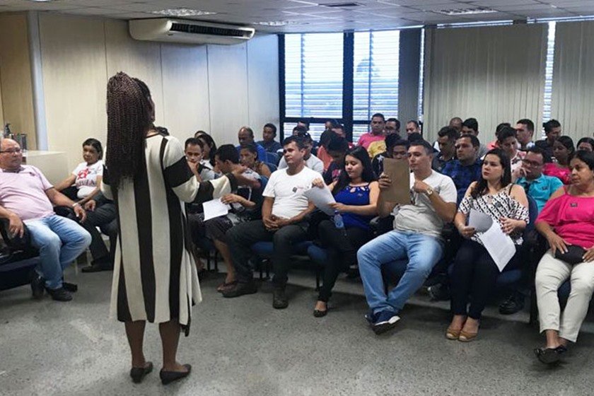
[{"label": "bright pink blouse of the front-row woman in white trousers", "polygon": [[585,249],[594,246],[594,197],[574,197],[563,194],[549,200],[536,223],[544,221],[566,243]]}]

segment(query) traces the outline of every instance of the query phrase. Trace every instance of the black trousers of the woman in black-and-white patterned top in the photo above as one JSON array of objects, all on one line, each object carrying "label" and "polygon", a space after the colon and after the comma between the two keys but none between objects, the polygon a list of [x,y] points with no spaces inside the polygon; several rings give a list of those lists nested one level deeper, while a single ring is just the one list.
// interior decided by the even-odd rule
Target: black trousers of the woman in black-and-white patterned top
[{"label": "black trousers of the woman in black-and-white patterned top", "polygon": [[[520,262],[520,255],[516,249],[516,255],[513,255],[503,270],[516,269]],[[465,239],[454,260],[450,277],[453,314],[468,315],[479,320],[489,296],[493,293],[498,276],[499,268],[487,249],[474,240]],[[467,308],[469,296],[472,296],[472,301],[470,308]]]}]

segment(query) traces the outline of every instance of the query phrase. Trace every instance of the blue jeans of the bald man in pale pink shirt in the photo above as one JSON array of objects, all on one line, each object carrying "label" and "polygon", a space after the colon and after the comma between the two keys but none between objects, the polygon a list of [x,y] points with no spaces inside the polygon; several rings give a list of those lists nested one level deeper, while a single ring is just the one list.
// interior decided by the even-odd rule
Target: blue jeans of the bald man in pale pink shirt
[{"label": "blue jeans of the bald man in pale pink shirt", "polygon": [[91,234],[76,221],[55,214],[24,223],[31,235],[31,245],[39,250],[37,272],[44,277],[47,288],[61,288],[64,268],[91,245]]}]

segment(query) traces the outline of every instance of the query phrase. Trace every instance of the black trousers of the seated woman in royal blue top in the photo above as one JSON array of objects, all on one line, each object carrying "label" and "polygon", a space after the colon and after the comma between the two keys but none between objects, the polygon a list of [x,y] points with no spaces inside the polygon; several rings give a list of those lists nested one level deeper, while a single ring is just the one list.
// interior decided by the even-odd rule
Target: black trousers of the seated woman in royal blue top
[{"label": "black trousers of the seated woman in royal blue top", "polygon": [[318,225],[318,236],[330,256],[324,265],[323,284],[318,295],[319,301],[327,302],[340,272],[357,263],[357,250],[371,240],[371,231],[357,227],[339,230],[334,221],[324,220]]}]

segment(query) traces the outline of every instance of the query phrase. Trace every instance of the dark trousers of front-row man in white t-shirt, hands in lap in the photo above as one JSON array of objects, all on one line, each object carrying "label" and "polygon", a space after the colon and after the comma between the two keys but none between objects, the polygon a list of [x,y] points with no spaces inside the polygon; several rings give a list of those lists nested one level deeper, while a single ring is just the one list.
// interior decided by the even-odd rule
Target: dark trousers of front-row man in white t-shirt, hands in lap
[{"label": "dark trousers of front-row man in white t-shirt, hands in lap", "polygon": [[291,267],[291,255],[293,246],[308,238],[308,223],[302,222],[284,226],[277,231],[268,231],[262,220],[240,223],[231,228],[226,234],[235,274],[240,282],[252,280],[252,267],[249,260],[252,257],[251,246],[256,242],[272,241],[274,251],[272,253],[272,267],[274,277],[272,283],[276,287],[286,285],[287,274]]}]

